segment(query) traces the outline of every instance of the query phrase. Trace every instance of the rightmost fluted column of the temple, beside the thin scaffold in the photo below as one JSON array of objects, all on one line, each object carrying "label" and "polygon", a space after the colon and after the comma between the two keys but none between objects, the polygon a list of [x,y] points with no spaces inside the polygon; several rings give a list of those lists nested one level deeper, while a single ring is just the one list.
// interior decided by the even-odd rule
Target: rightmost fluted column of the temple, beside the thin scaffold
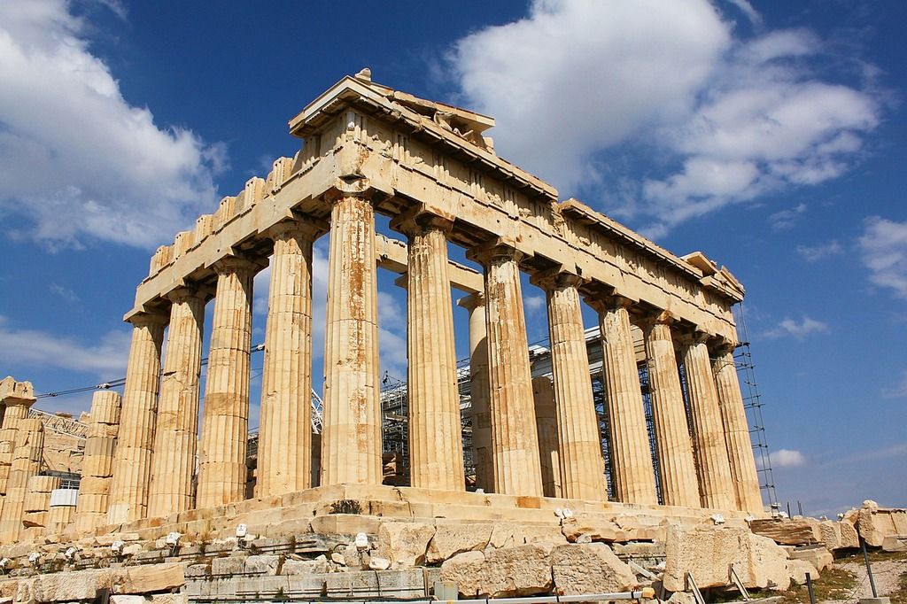
[{"label": "rightmost fluted column of the temple, beside the thin scaffold", "polygon": [[719,346],[712,362],[721,421],[725,429],[727,459],[730,463],[731,481],[734,483],[738,510],[763,511],[762,492],[756,473],[756,457],[749,438],[746,409],[734,363],[734,346]]}]

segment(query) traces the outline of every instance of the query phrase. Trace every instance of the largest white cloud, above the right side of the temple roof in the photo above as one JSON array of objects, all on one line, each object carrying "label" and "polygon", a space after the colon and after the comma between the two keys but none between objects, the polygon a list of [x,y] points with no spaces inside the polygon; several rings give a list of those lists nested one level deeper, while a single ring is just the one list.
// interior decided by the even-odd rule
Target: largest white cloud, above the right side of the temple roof
[{"label": "largest white cloud, above the right side of the temple roof", "polygon": [[[729,2],[759,29],[752,5]],[[610,199],[588,201],[658,236],[859,158],[881,109],[820,80],[808,65],[824,52],[804,30],[741,39],[707,0],[535,0],[526,18],[460,40],[451,62],[462,102],[497,119],[502,156],[561,197],[614,181]],[[620,148],[645,151],[649,178],[628,186],[621,162],[603,166]]]}]

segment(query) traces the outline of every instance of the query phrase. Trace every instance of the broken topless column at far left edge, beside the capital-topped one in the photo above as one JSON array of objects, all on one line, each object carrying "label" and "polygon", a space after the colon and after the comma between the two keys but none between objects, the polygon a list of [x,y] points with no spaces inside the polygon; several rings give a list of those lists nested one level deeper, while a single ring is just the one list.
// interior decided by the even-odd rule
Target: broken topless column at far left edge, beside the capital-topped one
[{"label": "broken topless column at far left edge, beside the capital-topped one", "polygon": [[0,543],[15,543],[22,537],[28,481],[41,470],[43,447],[44,424],[41,420],[22,420],[16,433],[13,466],[0,512]]}]

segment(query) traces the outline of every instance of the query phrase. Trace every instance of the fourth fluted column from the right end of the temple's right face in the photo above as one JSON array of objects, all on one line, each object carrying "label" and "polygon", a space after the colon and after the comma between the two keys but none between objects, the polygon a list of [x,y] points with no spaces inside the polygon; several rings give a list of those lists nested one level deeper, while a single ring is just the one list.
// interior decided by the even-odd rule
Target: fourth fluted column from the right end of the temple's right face
[{"label": "fourth fluted column from the right end of the temple's right face", "polygon": [[593,301],[592,306],[600,312],[614,495],[619,502],[657,504],[655,470],[630,333],[629,300],[608,297]]}]

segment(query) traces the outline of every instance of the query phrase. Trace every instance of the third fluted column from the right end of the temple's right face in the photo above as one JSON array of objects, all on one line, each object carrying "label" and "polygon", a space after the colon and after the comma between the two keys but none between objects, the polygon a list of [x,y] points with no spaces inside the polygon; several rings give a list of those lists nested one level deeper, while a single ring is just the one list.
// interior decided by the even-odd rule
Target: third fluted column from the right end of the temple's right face
[{"label": "third fluted column from the right end of the temple's right face", "polygon": [[677,355],[667,313],[643,322],[646,362],[649,365],[649,397],[655,424],[661,496],[665,505],[700,507],[693,443],[689,437],[687,410],[680,389]]}]

